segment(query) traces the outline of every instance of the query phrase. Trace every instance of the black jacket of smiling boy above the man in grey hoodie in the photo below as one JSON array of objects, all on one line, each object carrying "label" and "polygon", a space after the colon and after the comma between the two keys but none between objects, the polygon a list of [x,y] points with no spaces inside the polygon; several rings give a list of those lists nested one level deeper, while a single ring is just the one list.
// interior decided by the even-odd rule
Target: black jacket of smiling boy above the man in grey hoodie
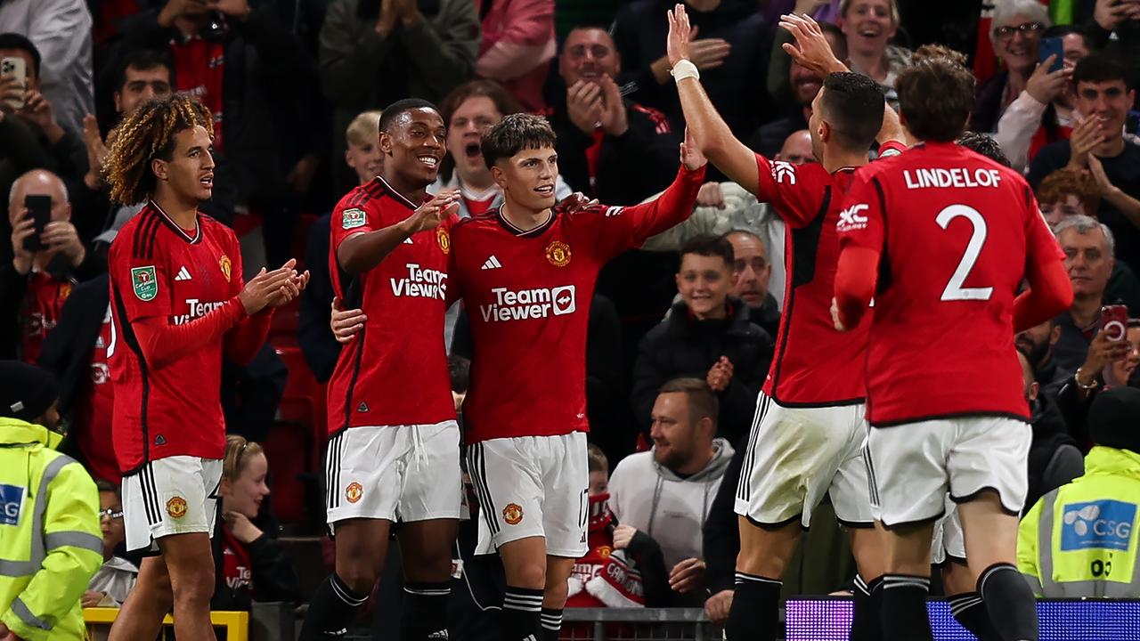
[{"label": "black jacket of smiling boy above the man in grey hoodie", "polygon": [[717,396],[720,416],[717,433],[736,443],[752,422],[756,395],[772,363],[772,336],[749,320],[748,306],[728,298],[728,318],[697,320],[684,302],[642,339],[634,364],[633,406],[646,433],[658,389],[667,381],[691,376],[705,380],[722,357],[733,365],[732,382]]}]

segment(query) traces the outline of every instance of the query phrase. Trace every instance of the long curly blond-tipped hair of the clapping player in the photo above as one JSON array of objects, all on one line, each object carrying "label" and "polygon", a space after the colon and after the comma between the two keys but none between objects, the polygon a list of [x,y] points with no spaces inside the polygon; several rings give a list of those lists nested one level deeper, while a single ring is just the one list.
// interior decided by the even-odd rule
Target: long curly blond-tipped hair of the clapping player
[{"label": "long curly blond-tipped hair of the clapping player", "polygon": [[174,137],[195,127],[205,129],[213,140],[213,114],[188,94],[152,98],[127,114],[107,136],[111,149],[103,175],[111,186],[111,200],[132,205],[153,195],[157,179],[150,161],[171,160]]}]

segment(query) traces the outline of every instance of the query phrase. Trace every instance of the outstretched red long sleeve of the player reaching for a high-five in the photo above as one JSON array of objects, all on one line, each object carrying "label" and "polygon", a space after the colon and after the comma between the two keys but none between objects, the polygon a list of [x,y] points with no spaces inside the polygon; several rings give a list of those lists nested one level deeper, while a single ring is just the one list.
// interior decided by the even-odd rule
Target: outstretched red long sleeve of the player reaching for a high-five
[{"label": "outstretched red long sleeve of the player reaching for a high-five", "polygon": [[584,221],[591,228],[587,245],[602,260],[640,248],[651,236],[683,222],[693,213],[697,192],[705,181],[705,167],[697,171],[681,165],[673,184],[660,196],[648,203],[633,206],[602,206],[577,214],[576,221]]}]

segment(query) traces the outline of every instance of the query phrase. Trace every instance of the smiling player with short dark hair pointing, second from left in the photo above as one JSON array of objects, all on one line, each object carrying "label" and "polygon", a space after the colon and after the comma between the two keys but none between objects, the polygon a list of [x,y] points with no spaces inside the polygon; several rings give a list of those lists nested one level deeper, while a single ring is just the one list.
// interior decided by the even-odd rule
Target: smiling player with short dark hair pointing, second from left
[{"label": "smiling player with short dark hair pointing, second from left", "polygon": [[397,519],[406,578],[400,639],[447,634],[462,480],[443,301],[447,224],[459,205],[454,189],[425,192],[445,135],[431,103],[393,103],[380,117],[380,175],[333,210],[333,289],[364,316],[328,383],[327,516],[336,569],[311,600],[304,640],[343,634],[383,569]]}]

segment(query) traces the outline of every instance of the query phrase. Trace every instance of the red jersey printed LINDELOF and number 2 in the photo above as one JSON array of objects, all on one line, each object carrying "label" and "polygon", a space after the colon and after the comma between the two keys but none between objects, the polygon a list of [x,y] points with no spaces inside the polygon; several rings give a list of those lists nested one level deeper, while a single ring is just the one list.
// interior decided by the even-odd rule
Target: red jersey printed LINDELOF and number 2
[{"label": "red jersey printed LINDELOF and number 2", "polygon": [[868,412],[886,427],[987,414],[1028,420],[1013,299],[1029,261],[1062,260],[1016,171],[927,143],[855,175],[840,246],[880,252]]}]

